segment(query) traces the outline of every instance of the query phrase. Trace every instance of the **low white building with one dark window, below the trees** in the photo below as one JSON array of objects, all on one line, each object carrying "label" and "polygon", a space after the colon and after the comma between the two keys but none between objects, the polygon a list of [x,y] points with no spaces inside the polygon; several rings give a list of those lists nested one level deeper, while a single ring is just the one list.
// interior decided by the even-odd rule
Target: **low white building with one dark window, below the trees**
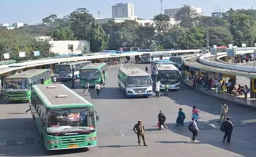
[{"label": "low white building with one dark window, below the trees", "polygon": [[[39,37],[40,38],[40,37]],[[90,53],[90,42],[85,40],[66,40],[66,41],[49,41],[52,45],[50,52],[58,54],[81,54],[83,51]]]}]

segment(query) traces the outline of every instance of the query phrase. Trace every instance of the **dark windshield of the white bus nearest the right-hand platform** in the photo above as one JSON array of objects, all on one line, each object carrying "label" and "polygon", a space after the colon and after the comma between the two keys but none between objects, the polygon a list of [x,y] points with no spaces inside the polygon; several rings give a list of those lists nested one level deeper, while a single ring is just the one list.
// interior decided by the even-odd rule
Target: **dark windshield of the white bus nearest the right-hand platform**
[{"label": "dark windshield of the white bus nearest the right-hand platform", "polygon": [[178,70],[159,70],[158,71],[158,80],[161,83],[171,83],[179,82],[180,80],[180,71]]}]

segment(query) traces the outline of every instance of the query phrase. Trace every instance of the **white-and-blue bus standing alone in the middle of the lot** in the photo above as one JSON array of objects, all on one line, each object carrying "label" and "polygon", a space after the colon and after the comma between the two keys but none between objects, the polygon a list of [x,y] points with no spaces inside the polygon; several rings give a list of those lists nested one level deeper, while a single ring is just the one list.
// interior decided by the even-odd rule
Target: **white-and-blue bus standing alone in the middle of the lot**
[{"label": "white-and-blue bus standing alone in the middle of the lot", "polygon": [[152,79],[150,74],[139,68],[120,68],[118,86],[126,97],[149,97],[152,95]]}]

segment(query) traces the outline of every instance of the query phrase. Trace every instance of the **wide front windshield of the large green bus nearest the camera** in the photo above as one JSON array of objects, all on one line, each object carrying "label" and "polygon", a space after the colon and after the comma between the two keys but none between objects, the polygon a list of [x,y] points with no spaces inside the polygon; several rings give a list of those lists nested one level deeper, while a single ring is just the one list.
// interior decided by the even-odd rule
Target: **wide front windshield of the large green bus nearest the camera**
[{"label": "wide front windshield of the large green bus nearest the camera", "polygon": [[91,133],[92,130],[95,130],[95,120],[91,107],[48,111],[48,134]]}]

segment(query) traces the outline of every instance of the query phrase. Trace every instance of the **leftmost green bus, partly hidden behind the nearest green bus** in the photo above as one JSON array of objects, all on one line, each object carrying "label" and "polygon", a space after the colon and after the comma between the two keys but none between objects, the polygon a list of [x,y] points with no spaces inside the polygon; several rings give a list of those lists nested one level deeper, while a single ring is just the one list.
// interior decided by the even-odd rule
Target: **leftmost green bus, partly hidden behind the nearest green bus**
[{"label": "leftmost green bus, partly hidden behind the nearest green bus", "polygon": [[49,69],[32,69],[4,78],[3,96],[11,101],[26,101],[31,98],[31,85],[51,84]]}]

